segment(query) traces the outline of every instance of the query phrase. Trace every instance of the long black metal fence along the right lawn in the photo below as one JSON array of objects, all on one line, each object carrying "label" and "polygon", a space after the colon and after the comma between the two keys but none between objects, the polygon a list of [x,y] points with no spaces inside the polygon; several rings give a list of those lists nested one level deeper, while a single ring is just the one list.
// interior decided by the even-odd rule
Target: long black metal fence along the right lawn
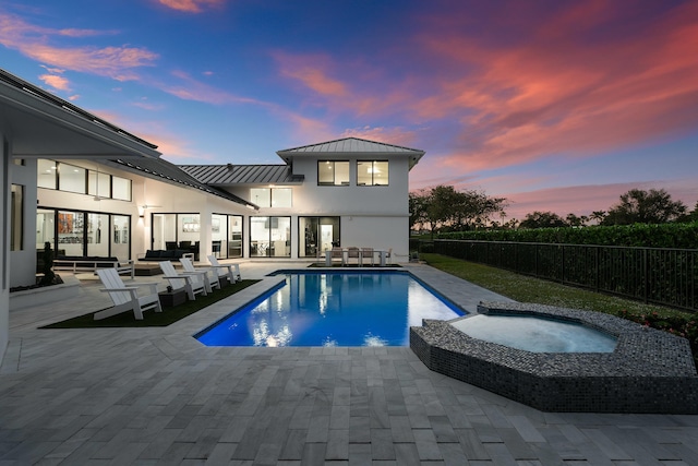
[{"label": "long black metal fence along the right lawn", "polygon": [[[420,248],[431,250],[431,241]],[[435,240],[438,254],[645,302],[698,311],[698,250]]]}]

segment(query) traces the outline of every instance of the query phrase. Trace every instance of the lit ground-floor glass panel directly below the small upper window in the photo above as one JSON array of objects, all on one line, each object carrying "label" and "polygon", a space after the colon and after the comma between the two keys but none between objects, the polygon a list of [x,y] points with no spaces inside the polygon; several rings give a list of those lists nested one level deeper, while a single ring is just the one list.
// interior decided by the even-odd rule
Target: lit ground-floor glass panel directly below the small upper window
[{"label": "lit ground-floor glass panel directly below the small upper window", "polygon": [[251,258],[291,256],[291,217],[250,217]]}]

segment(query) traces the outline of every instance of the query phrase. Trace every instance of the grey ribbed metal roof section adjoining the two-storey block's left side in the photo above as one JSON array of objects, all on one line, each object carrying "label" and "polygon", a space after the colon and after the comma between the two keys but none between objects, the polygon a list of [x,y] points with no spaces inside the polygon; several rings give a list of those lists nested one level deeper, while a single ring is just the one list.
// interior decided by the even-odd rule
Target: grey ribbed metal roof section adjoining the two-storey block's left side
[{"label": "grey ribbed metal roof section adjoining the two-storey block's left side", "polygon": [[302,175],[293,175],[288,165],[179,165],[179,168],[205,184],[298,184]]}]

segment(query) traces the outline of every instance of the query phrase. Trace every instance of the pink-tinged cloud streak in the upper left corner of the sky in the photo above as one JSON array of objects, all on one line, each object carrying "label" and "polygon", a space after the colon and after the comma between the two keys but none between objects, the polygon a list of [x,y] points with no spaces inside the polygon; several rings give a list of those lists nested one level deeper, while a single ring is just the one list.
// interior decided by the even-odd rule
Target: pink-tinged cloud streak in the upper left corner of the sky
[{"label": "pink-tinged cloud streak in the upper left corner of the sky", "polygon": [[51,67],[129,81],[139,77],[133,69],[153,65],[158,58],[157,53],[145,48],[129,46],[96,48],[62,47],[49,44],[51,38],[61,36],[83,37],[97,34],[99,32],[92,29],[40,27],[12,15],[0,14],[0,44]]}]

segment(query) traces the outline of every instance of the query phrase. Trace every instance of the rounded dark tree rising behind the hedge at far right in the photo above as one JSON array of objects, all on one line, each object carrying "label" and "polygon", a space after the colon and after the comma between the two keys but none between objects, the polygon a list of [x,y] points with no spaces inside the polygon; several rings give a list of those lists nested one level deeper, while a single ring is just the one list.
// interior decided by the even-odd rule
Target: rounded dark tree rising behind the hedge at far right
[{"label": "rounded dark tree rising behind the hedge at far right", "polygon": [[672,201],[663,189],[631,189],[621,194],[621,202],[609,210],[602,225],[665,224],[687,211],[681,201]]}]

